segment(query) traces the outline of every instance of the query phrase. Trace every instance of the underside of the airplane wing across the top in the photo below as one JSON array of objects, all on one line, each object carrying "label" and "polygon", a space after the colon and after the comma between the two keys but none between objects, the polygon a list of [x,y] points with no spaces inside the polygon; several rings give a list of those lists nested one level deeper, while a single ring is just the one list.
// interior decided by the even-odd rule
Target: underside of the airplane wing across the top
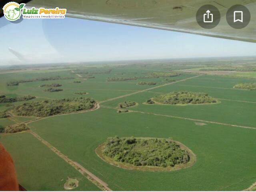
[{"label": "underside of the airplane wing across the top", "polygon": [[[220,11],[220,23],[212,29],[201,28],[196,12],[210,4]],[[251,20],[242,29],[230,27],[226,21],[228,8],[242,4]],[[199,34],[218,38],[256,42],[256,0],[32,0],[27,6],[66,8],[67,16]]]}]

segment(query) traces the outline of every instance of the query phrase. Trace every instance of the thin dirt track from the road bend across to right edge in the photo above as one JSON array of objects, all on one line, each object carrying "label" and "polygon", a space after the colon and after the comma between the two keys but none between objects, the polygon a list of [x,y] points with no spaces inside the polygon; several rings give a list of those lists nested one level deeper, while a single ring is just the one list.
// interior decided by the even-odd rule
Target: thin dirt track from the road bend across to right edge
[{"label": "thin dirt track from the road bend across to right edge", "polygon": [[[117,110],[116,108],[113,108],[113,107],[110,107],[110,106],[102,105],[101,107]],[[207,121],[207,120],[202,120],[202,119],[192,119],[192,118],[186,118],[186,117],[157,114],[157,113],[152,113],[152,112],[143,112],[143,111],[135,111],[135,110],[129,110],[129,111],[130,112],[142,113],[142,114],[150,114],[150,115],[156,115],[156,116],[164,116],[164,117],[170,117],[170,118],[184,119],[184,120],[190,120],[190,121],[199,121],[199,122],[206,122],[206,123],[212,123],[212,124],[219,124],[219,125],[225,125],[225,126],[232,126],[232,127],[239,127],[239,128],[247,128],[247,129],[256,130],[256,127],[241,126],[241,125],[234,125],[234,124],[221,123],[221,122],[215,122],[215,121]]]}]

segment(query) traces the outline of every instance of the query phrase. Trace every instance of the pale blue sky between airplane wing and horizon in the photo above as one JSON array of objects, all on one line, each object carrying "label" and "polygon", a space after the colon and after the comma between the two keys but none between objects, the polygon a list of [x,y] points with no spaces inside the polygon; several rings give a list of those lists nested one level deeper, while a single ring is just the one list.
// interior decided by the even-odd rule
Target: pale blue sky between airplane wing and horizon
[{"label": "pale blue sky between airplane wing and horizon", "polygon": [[252,56],[256,44],[76,18],[0,18],[0,65],[28,63]]}]

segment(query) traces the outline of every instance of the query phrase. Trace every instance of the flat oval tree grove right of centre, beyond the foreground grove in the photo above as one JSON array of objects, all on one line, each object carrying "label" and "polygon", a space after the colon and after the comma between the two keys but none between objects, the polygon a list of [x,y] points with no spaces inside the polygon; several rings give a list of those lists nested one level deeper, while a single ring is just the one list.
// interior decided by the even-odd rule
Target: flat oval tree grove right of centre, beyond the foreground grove
[{"label": "flat oval tree grove right of centre, beyond the foreground grove", "polygon": [[170,92],[168,94],[162,94],[153,98],[155,102],[162,104],[204,104],[204,103],[216,103],[217,100],[208,96],[206,93],[197,92]]}]

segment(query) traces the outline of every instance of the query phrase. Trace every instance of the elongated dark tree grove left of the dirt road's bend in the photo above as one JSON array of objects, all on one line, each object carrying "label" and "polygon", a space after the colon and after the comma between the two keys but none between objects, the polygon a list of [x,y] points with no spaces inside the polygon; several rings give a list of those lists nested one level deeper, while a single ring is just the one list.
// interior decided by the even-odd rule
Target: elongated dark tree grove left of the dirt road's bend
[{"label": "elongated dark tree grove left of the dirt road's bend", "polygon": [[44,100],[24,103],[16,106],[13,113],[18,116],[45,117],[56,114],[66,114],[94,108],[95,101],[91,98],[71,98],[60,100]]}]

